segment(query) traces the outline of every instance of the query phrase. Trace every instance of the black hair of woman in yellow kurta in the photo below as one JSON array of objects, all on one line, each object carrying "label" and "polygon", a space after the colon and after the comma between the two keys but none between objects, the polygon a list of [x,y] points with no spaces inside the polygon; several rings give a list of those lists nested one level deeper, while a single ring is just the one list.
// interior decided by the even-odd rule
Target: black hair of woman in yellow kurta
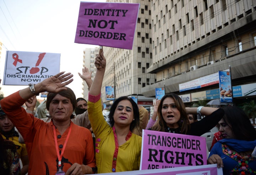
[{"label": "black hair of woman in yellow kurta", "polygon": [[133,129],[139,125],[139,108],[138,105],[130,97],[122,96],[114,101],[113,105],[110,108],[110,113],[108,114],[109,124],[111,127],[114,126],[114,112],[117,108],[118,103],[123,100],[128,100],[132,104],[134,120],[130,124],[130,131],[133,131]]}]

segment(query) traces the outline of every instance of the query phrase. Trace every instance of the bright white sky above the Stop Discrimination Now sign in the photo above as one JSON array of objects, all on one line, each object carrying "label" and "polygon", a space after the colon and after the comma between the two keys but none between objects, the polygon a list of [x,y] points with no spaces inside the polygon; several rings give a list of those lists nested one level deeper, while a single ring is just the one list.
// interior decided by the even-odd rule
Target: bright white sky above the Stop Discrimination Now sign
[{"label": "bright white sky above the Stop Discrimination Now sign", "polygon": [[[83,68],[83,50],[96,46],[74,43],[79,7],[80,0],[0,0],[0,41],[4,44],[0,78],[4,76],[6,50],[60,53],[60,71],[74,75],[68,87],[77,98],[82,97],[78,72]],[[0,87],[4,96],[8,96],[26,86],[1,83]]]}]

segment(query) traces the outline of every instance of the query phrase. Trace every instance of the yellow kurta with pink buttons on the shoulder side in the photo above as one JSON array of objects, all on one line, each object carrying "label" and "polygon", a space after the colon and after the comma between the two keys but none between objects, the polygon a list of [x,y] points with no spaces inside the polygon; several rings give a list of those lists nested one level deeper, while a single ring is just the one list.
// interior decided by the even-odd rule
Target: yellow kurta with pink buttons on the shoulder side
[{"label": "yellow kurta with pink buttons on the shoulder side", "polygon": [[[97,173],[111,173],[115,150],[114,132],[107,124],[101,108],[101,100],[88,102],[88,113],[96,138],[95,158]],[[139,170],[142,137],[132,134],[129,140],[118,147],[116,172]]]}]

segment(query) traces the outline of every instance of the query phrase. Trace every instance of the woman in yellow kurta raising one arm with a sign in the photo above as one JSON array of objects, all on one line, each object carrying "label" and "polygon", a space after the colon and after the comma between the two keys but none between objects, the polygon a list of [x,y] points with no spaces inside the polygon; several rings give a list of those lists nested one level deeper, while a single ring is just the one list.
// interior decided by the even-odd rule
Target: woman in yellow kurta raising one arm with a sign
[{"label": "woman in yellow kurta raising one arm with a sign", "polygon": [[88,113],[96,138],[97,173],[139,170],[142,137],[132,133],[139,124],[138,106],[131,98],[118,98],[111,106],[108,125],[100,100],[106,68],[103,52],[97,55],[95,66],[97,71],[89,92]]}]

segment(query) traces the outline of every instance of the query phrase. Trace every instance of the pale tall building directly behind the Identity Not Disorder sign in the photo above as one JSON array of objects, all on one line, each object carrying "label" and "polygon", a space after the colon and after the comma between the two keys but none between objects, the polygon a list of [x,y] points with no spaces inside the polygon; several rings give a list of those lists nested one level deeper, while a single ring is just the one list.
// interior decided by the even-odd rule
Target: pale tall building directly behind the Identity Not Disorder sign
[{"label": "pale tall building directly behind the Identity Not Disorder sign", "polygon": [[[107,2],[140,3],[138,22],[135,30],[133,49],[103,47],[107,67],[102,84],[102,100],[105,99],[105,86],[114,86],[116,98],[137,96],[138,104],[152,106],[154,97],[142,95],[141,89],[155,82],[155,74],[147,74],[152,62],[151,15],[149,0],[107,0]],[[107,105],[111,105],[111,101]]]}]

